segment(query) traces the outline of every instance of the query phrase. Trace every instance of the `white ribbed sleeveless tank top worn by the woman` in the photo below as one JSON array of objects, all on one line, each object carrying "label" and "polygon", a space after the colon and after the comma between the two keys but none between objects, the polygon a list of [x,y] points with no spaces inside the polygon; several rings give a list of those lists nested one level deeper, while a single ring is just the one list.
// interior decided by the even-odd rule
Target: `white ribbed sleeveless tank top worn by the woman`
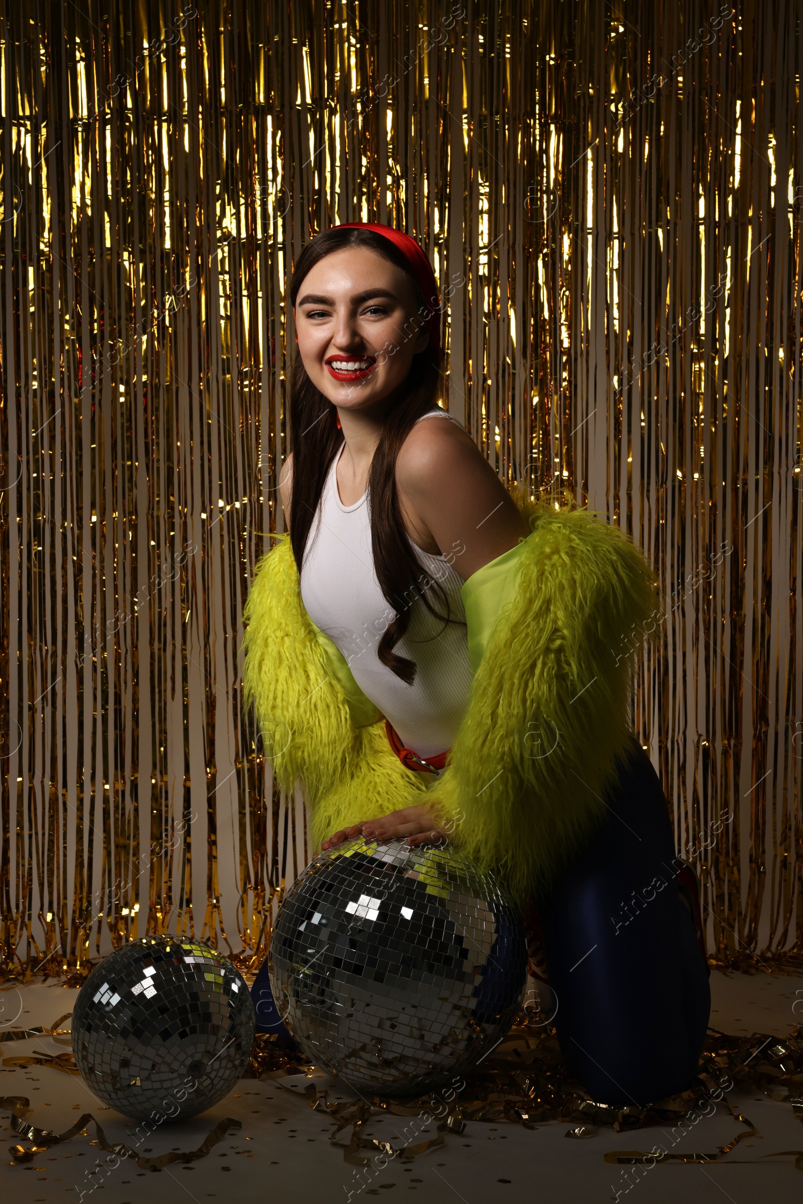
[{"label": "white ribbed sleeveless tank top worn by the woman", "polygon": [[[451,417],[437,407],[417,421],[435,414]],[[373,566],[367,490],[352,506],[343,506],[337,491],[343,447],[332,460],[307,539],[301,598],[312,621],[337,644],[356,684],[390,720],[405,745],[420,757],[436,756],[451,748],[468,704],[472,677],[466,627],[451,622],[444,627],[415,597],[407,633],[394,648],[418,666],[412,685],[382,663],[377,648],[395,612],[385,602]],[[460,574],[442,555],[411,543],[424,573],[443,588],[450,618],[465,622]],[[435,590],[429,598],[436,610],[445,613]],[[442,627],[443,633],[436,635]],[[436,638],[417,643],[431,636]]]}]

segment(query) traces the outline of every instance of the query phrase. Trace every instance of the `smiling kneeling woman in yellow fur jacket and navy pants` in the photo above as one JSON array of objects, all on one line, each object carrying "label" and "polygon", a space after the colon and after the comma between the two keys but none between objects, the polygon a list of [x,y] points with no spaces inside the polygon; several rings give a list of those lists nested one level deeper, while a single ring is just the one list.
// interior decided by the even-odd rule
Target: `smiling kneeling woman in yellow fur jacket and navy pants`
[{"label": "smiling kneeling woman in yellow fur jacket and navy pants", "polygon": [[684,1090],[710,1007],[696,884],[679,891],[628,718],[653,573],[618,529],[508,494],[437,406],[441,308],[412,238],[320,234],[289,295],[290,536],[246,607],[273,772],[301,784],[315,848],[448,837],[535,901],[595,1099]]}]

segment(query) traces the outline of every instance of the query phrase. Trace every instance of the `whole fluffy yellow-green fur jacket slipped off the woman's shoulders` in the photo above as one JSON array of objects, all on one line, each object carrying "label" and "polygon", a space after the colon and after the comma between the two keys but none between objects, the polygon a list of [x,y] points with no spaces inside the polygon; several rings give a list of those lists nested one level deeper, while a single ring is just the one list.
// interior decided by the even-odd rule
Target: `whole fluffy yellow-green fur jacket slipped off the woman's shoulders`
[{"label": "whole fluffy yellow-green fur jacket slipped off the woman's shoulders", "polygon": [[300,786],[315,850],[332,832],[426,801],[510,893],[545,885],[615,790],[631,732],[632,653],[655,577],[618,527],[516,496],[530,535],[462,588],[472,690],[439,777],[407,769],[384,719],[307,615],[289,537],[246,603],[244,702],[273,773]]}]

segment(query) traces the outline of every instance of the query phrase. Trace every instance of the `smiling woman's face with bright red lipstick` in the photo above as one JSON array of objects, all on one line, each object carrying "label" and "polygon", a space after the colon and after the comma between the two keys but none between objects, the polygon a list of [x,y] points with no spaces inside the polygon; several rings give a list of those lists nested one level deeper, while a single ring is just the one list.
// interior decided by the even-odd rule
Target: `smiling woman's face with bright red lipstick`
[{"label": "smiling woman's face with bright red lipstick", "polygon": [[341,409],[384,401],[429,343],[413,287],[367,247],[333,250],[312,267],[294,309],[307,376]]}]

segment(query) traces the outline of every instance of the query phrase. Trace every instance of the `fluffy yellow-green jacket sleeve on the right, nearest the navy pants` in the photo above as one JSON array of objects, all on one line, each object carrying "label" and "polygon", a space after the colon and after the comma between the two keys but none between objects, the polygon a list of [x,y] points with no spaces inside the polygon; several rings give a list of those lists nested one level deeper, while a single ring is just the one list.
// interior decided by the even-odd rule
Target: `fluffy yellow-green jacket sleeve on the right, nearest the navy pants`
[{"label": "fluffy yellow-green jacket sleeve on the right, nearest the navy pants", "polygon": [[654,574],[619,529],[586,510],[529,509],[530,536],[464,586],[472,692],[427,796],[516,897],[604,814],[631,739],[622,648],[656,604]]}]

